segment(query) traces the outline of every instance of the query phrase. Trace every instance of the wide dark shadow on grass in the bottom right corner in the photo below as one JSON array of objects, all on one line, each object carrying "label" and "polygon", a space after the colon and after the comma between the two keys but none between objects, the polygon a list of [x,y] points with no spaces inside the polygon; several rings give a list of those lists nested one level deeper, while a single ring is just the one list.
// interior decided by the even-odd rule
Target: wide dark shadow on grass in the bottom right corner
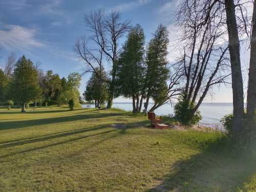
[{"label": "wide dark shadow on grass in the bottom right corner", "polygon": [[256,173],[255,162],[255,158],[204,151],[173,164],[170,174],[146,191],[237,191]]}]

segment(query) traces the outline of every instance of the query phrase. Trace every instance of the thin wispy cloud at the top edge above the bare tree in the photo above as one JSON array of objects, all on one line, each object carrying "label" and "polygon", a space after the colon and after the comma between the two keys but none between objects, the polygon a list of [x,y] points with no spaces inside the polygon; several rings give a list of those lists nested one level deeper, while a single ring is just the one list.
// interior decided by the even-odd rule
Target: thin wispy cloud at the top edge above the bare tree
[{"label": "thin wispy cloud at the top edge above the bare tree", "polygon": [[152,0],[138,0],[138,1],[134,1],[134,2],[130,2],[130,3],[123,3],[123,4],[119,4],[114,6],[111,10],[114,11],[120,11],[120,12],[127,12],[130,11],[132,9],[138,8],[140,6],[146,5],[151,3]]}]

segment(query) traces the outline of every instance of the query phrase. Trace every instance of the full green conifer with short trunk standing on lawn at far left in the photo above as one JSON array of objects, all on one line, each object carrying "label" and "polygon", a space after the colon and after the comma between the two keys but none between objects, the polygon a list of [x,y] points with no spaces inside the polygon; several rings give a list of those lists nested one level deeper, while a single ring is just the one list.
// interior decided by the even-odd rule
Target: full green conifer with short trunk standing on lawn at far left
[{"label": "full green conifer with short trunk standing on lawn at far left", "polygon": [[25,112],[26,104],[36,99],[40,93],[38,75],[33,62],[23,55],[16,63],[11,82],[13,100],[22,103],[22,112]]}]

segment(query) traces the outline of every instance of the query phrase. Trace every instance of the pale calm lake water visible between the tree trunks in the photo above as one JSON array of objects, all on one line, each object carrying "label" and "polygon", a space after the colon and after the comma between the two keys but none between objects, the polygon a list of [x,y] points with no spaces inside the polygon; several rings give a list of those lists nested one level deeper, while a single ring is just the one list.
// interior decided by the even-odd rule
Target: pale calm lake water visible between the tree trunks
[{"label": "pale calm lake water visible between the tree trunks", "polygon": [[[83,108],[85,108],[88,104],[83,104]],[[152,106],[153,104],[149,104]],[[91,105],[94,107],[94,105]],[[150,109],[150,106],[148,107]],[[132,111],[133,106],[132,103],[113,103],[114,108],[123,109],[126,111]],[[232,112],[233,105],[232,103],[202,103],[199,110],[203,119],[201,122],[210,123],[210,124],[219,124],[220,119]],[[160,106],[157,110],[155,110],[157,115],[174,115],[174,109],[171,104],[164,104]]]}]

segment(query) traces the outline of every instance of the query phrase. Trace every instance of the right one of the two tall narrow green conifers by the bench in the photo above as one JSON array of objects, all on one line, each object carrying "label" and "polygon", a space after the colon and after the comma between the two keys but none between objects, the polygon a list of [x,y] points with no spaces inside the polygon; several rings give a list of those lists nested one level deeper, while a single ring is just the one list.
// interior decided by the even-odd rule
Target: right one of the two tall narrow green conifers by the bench
[{"label": "right one of the two tall narrow green conifers by the bench", "polygon": [[[167,46],[169,43],[167,28],[163,25],[158,26],[153,38],[148,44],[146,56],[146,104],[147,110],[148,101],[153,98],[155,103],[162,102],[164,95],[167,94],[167,79],[169,70],[167,67]],[[154,111],[154,108],[150,109]]]}]

